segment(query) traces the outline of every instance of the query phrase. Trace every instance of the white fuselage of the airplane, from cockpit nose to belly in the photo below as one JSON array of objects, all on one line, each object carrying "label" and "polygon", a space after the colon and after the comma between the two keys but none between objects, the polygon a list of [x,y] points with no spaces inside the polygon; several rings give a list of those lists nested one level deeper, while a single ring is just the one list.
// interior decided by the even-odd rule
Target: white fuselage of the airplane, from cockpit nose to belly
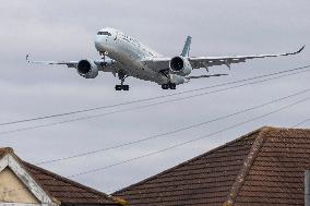
[{"label": "white fuselage of the airplane, from cockpit nose to belly", "polygon": [[129,76],[157,84],[166,84],[169,81],[167,76],[153,71],[142,62],[143,59],[163,56],[120,31],[103,28],[96,35],[95,47],[100,53],[106,52],[109,58],[120,62],[124,70],[122,72]]}]

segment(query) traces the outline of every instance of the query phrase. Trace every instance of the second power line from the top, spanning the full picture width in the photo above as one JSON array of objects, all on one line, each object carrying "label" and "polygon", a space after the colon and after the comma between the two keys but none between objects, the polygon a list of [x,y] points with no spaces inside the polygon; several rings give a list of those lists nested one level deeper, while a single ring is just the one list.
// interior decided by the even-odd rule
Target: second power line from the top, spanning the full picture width
[{"label": "second power line from the top, spanning the full picture width", "polygon": [[267,82],[267,81],[272,81],[272,80],[277,80],[277,78],[281,78],[281,77],[291,76],[291,75],[296,75],[296,74],[303,73],[303,72],[309,72],[309,70],[298,71],[298,72],[295,72],[295,73],[284,74],[284,75],[279,75],[279,76],[275,76],[275,77],[270,77],[270,78],[265,78],[265,80],[261,80],[261,81],[240,84],[240,85],[233,86],[233,87],[222,88],[222,89],[217,89],[217,90],[211,90],[211,92],[191,95],[191,96],[187,96],[187,97],[180,97],[180,98],[164,100],[164,101],[150,104],[150,105],[145,105],[145,106],[136,106],[136,107],[132,107],[132,108],[128,108],[128,109],[120,109],[120,110],[110,111],[110,112],[100,113],[100,114],[81,117],[81,118],[75,118],[75,119],[70,119],[70,120],[64,120],[64,121],[59,121],[59,122],[39,124],[39,125],[35,125],[35,126],[26,126],[26,128],[16,129],[16,130],[2,131],[2,132],[0,132],[0,135],[15,133],[15,132],[22,132],[22,131],[27,131],[27,130],[34,130],[34,129],[39,129],[39,128],[53,126],[53,125],[59,125],[59,124],[69,123],[69,122],[88,120],[88,119],[99,118],[99,117],[104,117],[104,116],[109,116],[109,114],[115,114],[115,113],[120,113],[120,112],[127,112],[127,111],[148,108],[148,107],[153,107],[153,106],[157,106],[157,105],[162,105],[162,104],[167,104],[167,102],[176,102],[176,101],[179,101],[179,100],[184,100],[184,99],[189,99],[189,98],[193,98],[193,97],[200,97],[200,96],[203,96],[203,95],[215,94],[215,93],[219,93],[219,92],[230,90],[230,89],[234,89],[234,88],[239,88],[239,87],[242,87],[242,86],[248,86],[248,85],[259,84],[259,83],[263,83],[263,82]]}]

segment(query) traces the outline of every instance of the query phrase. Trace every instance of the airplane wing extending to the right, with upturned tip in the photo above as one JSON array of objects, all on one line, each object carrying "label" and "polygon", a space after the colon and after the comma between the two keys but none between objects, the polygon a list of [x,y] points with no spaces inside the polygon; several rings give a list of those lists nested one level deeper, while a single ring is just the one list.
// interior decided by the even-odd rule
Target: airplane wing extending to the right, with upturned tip
[{"label": "airplane wing extending to the right, with upturned tip", "polygon": [[[277,54],[251,54],[251,56],[235,56],[235,57],[184,57],[189,60],[193,69],[200,68],[210,68],[213,65],[227,65],[230,68],[231,63],[241,63],[246,62],[249,59],[259,59],[259,58],[270,58],[270,57],[281,57],[281,56],[293,56],[302,51],[305,48],[301,47],[298,51],[287,52],[287,53],[277,53]],[[143,62],[147,64],[154,71],[162,71],[169,69],[170,58],[153,58],[145,59]]]}]

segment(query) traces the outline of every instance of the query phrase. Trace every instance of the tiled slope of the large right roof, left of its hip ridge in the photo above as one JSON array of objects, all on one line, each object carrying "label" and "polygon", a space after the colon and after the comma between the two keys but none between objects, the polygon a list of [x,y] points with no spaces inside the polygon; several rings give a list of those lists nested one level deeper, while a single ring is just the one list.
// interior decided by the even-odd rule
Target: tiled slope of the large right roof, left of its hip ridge
[{"label": "tiled slope of the large right roof, left of its hip ridge", "polygon": [[260,131],[233,141],[115,195],[129,205],[222,205]]}]

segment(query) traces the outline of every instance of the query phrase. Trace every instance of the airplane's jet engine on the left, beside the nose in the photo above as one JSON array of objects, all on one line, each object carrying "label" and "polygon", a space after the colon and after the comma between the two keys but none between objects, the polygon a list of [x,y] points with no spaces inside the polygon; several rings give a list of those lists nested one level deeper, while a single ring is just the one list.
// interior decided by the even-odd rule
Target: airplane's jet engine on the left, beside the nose
[{"label": "airplane's jet engine on the left, beside the nose", "polygon": [[78,63],[78,73],[84,78],[95,78],[98,75],[98,66],[90,60],[81,60]]}]

